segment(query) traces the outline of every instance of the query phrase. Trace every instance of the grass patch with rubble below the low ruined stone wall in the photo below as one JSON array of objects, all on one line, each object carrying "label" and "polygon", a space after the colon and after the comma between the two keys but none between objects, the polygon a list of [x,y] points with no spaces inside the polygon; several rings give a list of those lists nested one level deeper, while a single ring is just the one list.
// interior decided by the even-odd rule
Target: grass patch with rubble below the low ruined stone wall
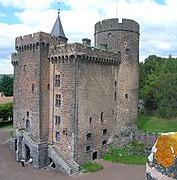
[{"label": "grass patch with rubble below the low ruined stone wall", "polygon": [[142,154],[146,147],[136,142],[130,143],[122,149],[108,148],[108,153],[102,159],[123,164],[145,164],[147,155]]}]

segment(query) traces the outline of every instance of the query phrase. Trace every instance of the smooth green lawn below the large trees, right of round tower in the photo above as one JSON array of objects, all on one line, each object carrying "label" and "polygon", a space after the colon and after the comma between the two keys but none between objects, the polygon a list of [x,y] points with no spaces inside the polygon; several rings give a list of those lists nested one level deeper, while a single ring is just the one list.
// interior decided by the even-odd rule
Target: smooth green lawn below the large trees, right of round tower
[{"label": "smooth green lawn below the large trees, right of round tower", "polygon": [[177,119],[167,120],[155,116],[139,115],[137,127],[139,130],[151,133],[177,132]]}]

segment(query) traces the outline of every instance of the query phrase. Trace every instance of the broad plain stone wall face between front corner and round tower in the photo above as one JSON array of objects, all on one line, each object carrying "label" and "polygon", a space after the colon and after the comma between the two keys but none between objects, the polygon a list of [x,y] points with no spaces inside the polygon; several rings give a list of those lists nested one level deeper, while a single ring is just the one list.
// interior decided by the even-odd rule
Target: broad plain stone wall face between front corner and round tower
[{"label": "broad plain stone wall face between front corner and round tower", "polygon": [[[94,152],[98,157],[105,152],[115,131],[115,74],[117,74],[117,66],[114,65],[87,61],[80,61],[78,64],[75,153],[79,164],[92,161]],[[91,137],[87,138],[89,133]],[[90,146],[88,151],[87,146]]]}]

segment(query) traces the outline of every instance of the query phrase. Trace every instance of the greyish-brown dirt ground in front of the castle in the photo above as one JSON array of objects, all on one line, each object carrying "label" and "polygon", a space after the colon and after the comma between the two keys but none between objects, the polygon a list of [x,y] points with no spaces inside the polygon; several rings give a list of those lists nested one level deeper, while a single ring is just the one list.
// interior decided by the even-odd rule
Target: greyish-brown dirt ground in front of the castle
[{"label": "greyish-brown dirt ground in front of the castle", "polygon": [[5,145],[7,129],[0,129],[0,180],[145,180],[145,165],[124,165],[98,160],[104,169],[94,173],[67,176],[54,169],[21,167],[15,152]]}]

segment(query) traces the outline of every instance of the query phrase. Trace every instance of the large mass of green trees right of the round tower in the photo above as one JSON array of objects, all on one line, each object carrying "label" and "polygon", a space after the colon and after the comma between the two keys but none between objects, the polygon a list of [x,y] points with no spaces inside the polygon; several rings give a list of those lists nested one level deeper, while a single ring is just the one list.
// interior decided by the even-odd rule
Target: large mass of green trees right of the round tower
[{"label": "large mass of green trees right of the round tower", "polygon": [[159,117],[177,117],[177,58],[149,56],[140,63],[140,98]]}]

